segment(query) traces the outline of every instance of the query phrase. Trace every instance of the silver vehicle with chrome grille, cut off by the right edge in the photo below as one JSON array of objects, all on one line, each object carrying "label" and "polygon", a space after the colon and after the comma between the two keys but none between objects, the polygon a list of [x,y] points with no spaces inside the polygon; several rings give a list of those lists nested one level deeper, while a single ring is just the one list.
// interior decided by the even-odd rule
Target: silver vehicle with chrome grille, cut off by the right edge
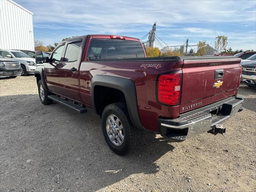
[{"label": "silver vehicle with chrome grille, cut off by the right edge", "polygon": [[[255,54],[256,55],[256,54]],[[254,55],[254,56],[255,56]],[[242,65],[242,79],[241,82],[256,87],[256,60],[249,60],[241,63]]]}]

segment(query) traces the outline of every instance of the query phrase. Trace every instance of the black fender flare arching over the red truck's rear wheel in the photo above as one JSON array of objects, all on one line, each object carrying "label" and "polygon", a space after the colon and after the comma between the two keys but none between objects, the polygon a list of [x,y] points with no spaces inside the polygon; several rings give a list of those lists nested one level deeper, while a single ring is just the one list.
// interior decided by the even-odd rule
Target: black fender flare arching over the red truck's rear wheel
[{"label": "black fender flare arching over the red truck's rear wheel", "polygon": [[91,86],[91,95],[92,95],[92,106],[94,111],[96,111],[96,105],[94,102],[94,87],[95,86],[105,86],[109,88],[114,88],[122,91],[124,94],[126,105],[128,109],[128,113],[132,124],[138,130],[145,130],[140,121],[140,116],[138,112],[138,103],[137,103],[137,94],[135,84],[132,80],[116,77],[116,76],[107,76],[107,75],[95,75],[92,78],[92,86]]}]

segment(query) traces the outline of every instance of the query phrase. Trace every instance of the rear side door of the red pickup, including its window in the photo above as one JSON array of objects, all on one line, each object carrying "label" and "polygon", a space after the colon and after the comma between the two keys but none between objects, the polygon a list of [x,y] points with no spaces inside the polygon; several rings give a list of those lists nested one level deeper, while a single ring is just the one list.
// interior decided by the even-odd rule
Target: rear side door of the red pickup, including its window
[{"label": "rear side door of the red pickup, including its window", "polygon": [[68,41],[65,47],[63,62],[58,65],[59,94],[79,102],[78,66],[82,54],[82,39]]}]

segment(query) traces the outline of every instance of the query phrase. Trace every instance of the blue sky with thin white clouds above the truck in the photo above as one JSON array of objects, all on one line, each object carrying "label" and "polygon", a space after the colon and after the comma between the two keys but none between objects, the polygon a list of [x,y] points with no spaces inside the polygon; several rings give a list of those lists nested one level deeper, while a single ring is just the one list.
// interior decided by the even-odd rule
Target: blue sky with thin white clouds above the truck
[{"label": "blue sky with thin white clouds above the truck", "polygon": [[14,0],[34,13],[34,38],[44,45],[86,34],[141,38],[157,22],[156,34],[169,46],[228,36],[233,50],[256,50],[256,0]]}]

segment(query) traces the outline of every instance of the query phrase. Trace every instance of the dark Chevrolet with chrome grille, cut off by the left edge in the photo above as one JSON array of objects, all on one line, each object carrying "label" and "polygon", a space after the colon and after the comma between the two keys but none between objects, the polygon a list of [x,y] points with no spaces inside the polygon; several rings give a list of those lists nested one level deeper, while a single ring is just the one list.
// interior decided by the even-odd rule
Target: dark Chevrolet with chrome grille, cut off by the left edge
[{"label": "dark Chevrolet with chrome grille, cut off by the left edge", "polygon": [[20,75],[20,62],[0,56],[0,78]]}]

